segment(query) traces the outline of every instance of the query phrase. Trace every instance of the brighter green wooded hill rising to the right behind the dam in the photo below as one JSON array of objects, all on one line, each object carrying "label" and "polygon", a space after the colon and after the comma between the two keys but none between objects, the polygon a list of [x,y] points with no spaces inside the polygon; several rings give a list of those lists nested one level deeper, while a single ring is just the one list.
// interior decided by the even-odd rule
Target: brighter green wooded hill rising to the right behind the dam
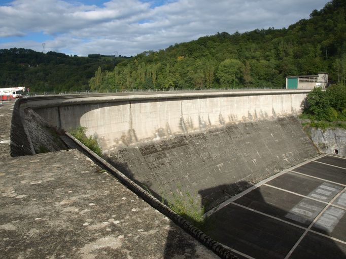
[{"label": "brighter green wooded hill rising to the right behind the dam", "polygon": [[227,32],[141,53],[112,71],[99,68],[90,88],[283,88],[289,75],[328,72],[346,79],[346,2],[334,0],[283,29]]}]

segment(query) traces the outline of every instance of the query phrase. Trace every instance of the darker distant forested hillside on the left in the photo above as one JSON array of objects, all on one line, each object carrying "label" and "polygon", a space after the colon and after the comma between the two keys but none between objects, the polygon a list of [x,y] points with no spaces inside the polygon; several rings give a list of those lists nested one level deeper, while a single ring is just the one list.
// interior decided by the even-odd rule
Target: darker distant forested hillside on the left
[{"label": "darker distant forested hillside on the left", "polygon": [[24,86],[32,91],[75,91],[89,89],[95,70],[113,70],[125,57],[71,57],[26,49],[0,50],[0,88]]}]

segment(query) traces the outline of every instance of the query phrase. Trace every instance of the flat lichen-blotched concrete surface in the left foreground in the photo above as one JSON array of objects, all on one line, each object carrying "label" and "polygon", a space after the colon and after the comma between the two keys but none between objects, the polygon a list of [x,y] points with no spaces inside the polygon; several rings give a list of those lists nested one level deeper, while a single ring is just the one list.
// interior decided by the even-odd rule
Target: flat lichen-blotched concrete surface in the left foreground
[{"label": "flat lichen-blotched concrete surface in the left foreground", "polygon": [[0,258],[218,258],[79,151],[14,158],[0,145]]}]

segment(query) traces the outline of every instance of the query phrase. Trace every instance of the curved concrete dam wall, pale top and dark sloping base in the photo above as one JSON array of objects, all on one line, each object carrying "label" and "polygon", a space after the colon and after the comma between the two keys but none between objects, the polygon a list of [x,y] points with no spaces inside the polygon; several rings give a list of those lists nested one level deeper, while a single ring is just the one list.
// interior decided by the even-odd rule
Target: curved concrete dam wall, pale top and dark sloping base
[{"label": "curved concrete dam wall, pale top and dark sloping base", "polygon": [[[172,201],[188,194],[209,210],[317,155],[295,117],[307,93],[64,97],[28,100],[21,110],[33,109],[66,131],[85,126],[107,160],[156,197]],[[29,121],[25,124],[30,126]],[[35,127],[27,130],[28,142],[42,142],[42,137],[34,141],[33,132]],[[32,143],[29,149],[35,152]]]}]

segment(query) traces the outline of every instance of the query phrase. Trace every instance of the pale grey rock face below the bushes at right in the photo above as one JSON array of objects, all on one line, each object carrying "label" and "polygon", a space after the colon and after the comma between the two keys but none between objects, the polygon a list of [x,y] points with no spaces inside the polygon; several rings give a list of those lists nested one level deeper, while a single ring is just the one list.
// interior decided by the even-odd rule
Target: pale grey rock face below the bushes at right
[{"label": "pale grey rock face below the bushes at right", "polygon": [[346,156],[346,130],[310,128],[311,138],[322,153]]}]

